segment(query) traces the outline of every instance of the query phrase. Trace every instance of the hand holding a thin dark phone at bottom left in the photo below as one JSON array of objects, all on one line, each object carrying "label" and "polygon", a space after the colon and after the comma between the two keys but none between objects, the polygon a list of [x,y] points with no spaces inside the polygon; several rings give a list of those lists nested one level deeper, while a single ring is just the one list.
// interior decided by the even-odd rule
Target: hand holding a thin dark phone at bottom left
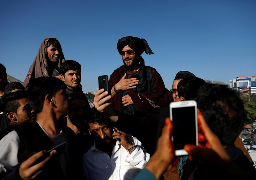
[{"label": "hand holding a thin dark phone at bottom left", "polygon": [[47,165],[47,162],[57,155],[57,151],[53,150],[47,158],[35,164],[38,159],[44,156],[45,153],[45,150],[39,151],[20,164],[18,170],[19,176],[24,180],[37,179],[37,176],[43,172],[44,166]]}]

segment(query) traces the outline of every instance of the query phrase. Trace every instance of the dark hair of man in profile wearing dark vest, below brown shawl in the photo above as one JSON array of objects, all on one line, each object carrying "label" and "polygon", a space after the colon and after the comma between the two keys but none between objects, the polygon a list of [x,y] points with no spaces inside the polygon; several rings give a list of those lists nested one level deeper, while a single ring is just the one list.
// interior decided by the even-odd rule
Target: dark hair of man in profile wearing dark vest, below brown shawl
[{"label": "dark hair of man in profile wearing dark vest, below brown shawl", "polygon": [[43,110],[45,96],[55,96],[60,89],[65,89],[66,84],[55,77],[39,77],[31,79],[28,84],[28,101],[35,113]]}]

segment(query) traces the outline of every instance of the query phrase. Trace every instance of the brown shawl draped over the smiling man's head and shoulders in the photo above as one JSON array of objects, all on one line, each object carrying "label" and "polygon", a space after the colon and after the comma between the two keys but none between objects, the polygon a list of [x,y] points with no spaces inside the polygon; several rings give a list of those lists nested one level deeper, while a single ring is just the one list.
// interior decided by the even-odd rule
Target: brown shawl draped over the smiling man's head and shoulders
[{"label": "brown shawl draped over the smiling man's head and shoulders", "polygon": [[[50,61],[48,58],[48,53],[47,53],[47,42],[48,39],[44,39],[44,41],[41,43],[41,46],[39,48],[38,54],[34,59],[34,62],[32,63],[32,65],[30,66],[29,70],[28,70],[28,74],[26,79],[23,82],[23,86],[26,87],[30,81],[30,79],[33,78],[38,78],[38,77],[42,77],[42,76],[52,76],[51,74],[49,75],[48,71],[48,62]],[[60,64],[63,63],[65,60],[61,46],[60,46],[60,59],[58,62],[58,68],[60,68]]]}]

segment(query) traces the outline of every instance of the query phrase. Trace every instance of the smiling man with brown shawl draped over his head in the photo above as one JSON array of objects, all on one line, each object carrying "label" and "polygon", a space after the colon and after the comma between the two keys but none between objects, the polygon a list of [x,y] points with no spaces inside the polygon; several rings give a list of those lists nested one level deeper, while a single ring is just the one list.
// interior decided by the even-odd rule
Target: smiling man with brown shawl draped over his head
[{"label": "smiling man with brown shawl draped over his head", "polygon": [[65,60],[62,53],[61,45],[58,39],[51,37],[44,39],[34,62],[28,70],[23,86],[26,88],[30,79],[47,76],[57,77],[60,79],[60,64]]}]

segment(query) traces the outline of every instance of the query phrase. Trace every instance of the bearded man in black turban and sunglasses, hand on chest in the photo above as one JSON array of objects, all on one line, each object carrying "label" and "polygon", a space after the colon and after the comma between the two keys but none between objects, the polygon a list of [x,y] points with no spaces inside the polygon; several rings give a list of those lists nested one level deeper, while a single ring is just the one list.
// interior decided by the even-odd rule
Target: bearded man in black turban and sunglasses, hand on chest
[{"label": "bearded man in black turban and sunglasses, hand on chest", "polygon": [[115,110],[126,114],[145,116],[160,106],[169,105],[171,93],[155,68],[145,66],[141,54],[154,54],[145,39],[127,36],[118,40],[117,50],[124,65],[109,79],[112,104]]}]

